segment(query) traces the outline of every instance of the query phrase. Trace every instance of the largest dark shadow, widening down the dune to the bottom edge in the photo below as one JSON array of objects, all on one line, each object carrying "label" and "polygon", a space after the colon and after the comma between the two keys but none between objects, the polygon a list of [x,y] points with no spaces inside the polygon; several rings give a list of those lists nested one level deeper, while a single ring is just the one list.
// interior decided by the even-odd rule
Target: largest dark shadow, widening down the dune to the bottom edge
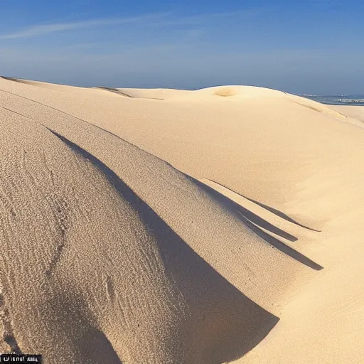
[{"label": "largest dark shadow, widening down the dune to the bottom edge", "polygon": [[[48,130],[104,173],[119,196],[137,211],[154,235],[166,276],[188,306],[187,319],[178,320],[173,333],[178,339],[176,345],[181,346],[184,353],[191,353],[191,362],[196,358],[201,363],[211,364],[236,360],[267,336],[279,321],[277,316],[255,304],[216,272],[102,161],[60,134]],[[216,310],[219,307],[221,310]],[[176,363],[179,362],[178,358],[176,360]]]}]

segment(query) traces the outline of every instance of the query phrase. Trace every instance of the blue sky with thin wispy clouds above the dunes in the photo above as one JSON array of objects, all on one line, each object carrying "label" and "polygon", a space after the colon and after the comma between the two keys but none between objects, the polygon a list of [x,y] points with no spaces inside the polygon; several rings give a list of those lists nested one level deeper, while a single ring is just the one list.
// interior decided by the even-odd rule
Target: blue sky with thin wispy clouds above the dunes
[{"label": "blue sky with thin wispy clouds above the dunes", "polygon": [[2,0],[0,74],[364,94],[364,1]]}]

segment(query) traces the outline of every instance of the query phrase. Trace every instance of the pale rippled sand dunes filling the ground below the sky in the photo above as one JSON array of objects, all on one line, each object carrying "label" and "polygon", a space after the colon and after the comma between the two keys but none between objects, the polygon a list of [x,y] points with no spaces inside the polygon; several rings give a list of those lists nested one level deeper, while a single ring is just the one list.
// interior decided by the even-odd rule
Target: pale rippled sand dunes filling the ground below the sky
[{"label": "pale rippled sand dunes filling the ground below the sky", "polygon": [[351,110],[258,87],[0,78],[0,352],[363,363]]}]

